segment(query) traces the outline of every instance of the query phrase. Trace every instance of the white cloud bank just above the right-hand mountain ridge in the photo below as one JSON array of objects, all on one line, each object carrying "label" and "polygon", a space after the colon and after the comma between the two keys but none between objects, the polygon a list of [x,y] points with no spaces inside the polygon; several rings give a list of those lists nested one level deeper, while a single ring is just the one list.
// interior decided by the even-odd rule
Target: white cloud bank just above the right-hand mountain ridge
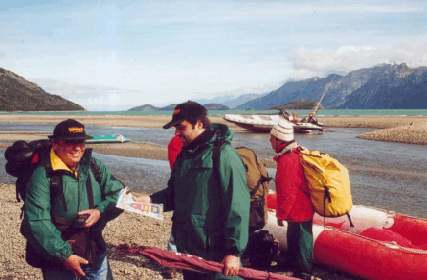
[{"label": "white cloud bank just above the right-hand mountain ridge", "polygon": [[[415,41],[415,40],[414,40]],[[427,65],[427,41],[400,43],[395,46],[341,46],[336,49],[306,49],[295,51],[293,78],[348,73],[381,63],[407,63],[410,67]]]}]

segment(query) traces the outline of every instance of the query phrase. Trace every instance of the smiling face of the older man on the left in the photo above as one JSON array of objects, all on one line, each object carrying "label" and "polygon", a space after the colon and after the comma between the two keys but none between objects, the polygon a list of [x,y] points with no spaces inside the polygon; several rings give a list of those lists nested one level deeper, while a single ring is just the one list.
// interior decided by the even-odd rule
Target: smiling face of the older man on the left
[{"label": "smiling face of the older man on the left", "polygon": [[80,142],[67,142],[60,140],[53,144],[55,153],[70,168],[75,168],[82,159],[85,151],[85,144]]}]

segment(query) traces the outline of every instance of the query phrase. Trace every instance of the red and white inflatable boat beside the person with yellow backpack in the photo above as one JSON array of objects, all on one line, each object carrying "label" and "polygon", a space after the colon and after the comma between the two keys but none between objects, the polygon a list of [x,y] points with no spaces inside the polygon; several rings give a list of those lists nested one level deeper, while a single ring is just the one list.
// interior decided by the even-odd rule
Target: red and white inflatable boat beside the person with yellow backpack
[{"label": "red and white inflatable boat beside the person with yellow backpack", "polygon": [[[267,200],[276,209],[276,196]],[[366,279],[427,279],[427,220],[362,205],[347,217],[314,217],[314,260]],[[266,226],[286,250],[274,210]]]}]

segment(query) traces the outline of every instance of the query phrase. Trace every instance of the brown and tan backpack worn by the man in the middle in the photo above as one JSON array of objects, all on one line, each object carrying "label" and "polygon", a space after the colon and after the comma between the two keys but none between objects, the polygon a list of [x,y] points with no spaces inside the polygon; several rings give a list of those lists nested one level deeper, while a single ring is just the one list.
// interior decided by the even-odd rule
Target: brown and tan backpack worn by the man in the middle
[{"label": "brown and tan backpack worn by the man in the middle", "polygon": [[[214,145],[214,166],[219,164],[220,149],[223,143]],[[267,168],[258,160],[254,150],[247,147],[236,148],[246,169],[247,186],[251,197],[249,212],[249,232],[263,228],[267,223],[267,205],[265,199],[268,194],[269,181]],[[218,169],[218,167],[215,167]]]}]

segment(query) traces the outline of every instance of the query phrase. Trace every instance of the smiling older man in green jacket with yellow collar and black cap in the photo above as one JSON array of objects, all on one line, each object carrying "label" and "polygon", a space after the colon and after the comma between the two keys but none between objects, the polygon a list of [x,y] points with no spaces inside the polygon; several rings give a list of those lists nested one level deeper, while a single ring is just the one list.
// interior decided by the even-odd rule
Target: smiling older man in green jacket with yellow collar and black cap
[{"label": "smiling older man in green jacket with yellow collar and black cap", "polygon": [[49,138],[25,196],[27,262],[44,279],[112,279],[102,230],[120,213],[123,185],[85,149],[83,124],[65,120]]}]

